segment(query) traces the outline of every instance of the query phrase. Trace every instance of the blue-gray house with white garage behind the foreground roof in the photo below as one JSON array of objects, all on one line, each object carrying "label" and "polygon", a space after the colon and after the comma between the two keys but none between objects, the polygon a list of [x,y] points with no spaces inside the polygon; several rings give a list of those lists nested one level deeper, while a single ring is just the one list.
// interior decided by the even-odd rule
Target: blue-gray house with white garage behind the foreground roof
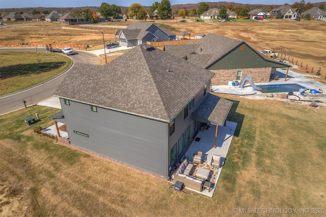
[{"label": "blue-gray house with white garage behind the foreground roof", "polygon": [[176,34],[151,22],[132,22],[125,29],[117,29],[115,36],[118,36],[120,45],[124,47],[137,46],[148,41],[176,40]]}]

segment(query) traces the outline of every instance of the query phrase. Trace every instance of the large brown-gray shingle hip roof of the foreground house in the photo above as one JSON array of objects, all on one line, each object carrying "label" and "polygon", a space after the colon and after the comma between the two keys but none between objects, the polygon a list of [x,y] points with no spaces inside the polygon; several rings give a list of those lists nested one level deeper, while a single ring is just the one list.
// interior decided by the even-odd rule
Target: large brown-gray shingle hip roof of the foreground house
[{"label": "large brown-gray shingle hip roof of the foreground house", "polygon": [[53,95],[169,122],[213,76],[142,44],[103,66],[75,64]]}]

